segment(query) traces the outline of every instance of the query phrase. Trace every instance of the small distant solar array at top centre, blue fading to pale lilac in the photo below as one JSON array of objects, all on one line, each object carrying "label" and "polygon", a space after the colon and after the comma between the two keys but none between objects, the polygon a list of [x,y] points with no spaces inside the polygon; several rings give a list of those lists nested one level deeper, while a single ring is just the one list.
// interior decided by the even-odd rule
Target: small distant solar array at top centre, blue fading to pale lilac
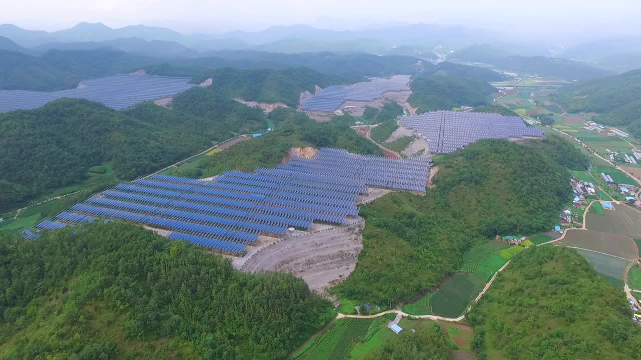
[{"label": "small distant solar array at top centre, blue fading to pale lilac", "polygon": [[301,110],[334,111],[345,101],[374,101],[388,91],[410,90],[409,83],[409,75],[395,75],[367,83],[330,85],[304,102]]}]

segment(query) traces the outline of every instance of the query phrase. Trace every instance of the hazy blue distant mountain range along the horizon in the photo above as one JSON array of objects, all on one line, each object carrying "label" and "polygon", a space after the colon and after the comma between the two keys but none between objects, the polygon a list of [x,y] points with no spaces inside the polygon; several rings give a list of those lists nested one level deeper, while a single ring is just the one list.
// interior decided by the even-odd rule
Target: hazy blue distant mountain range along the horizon
[{"label": "hazy blue distant mountain range along the horizon", "polygon": [[[212,50],[259,50],[272,53],[333,51],[338,53],[388,54],[399,46],[411,45],[432,58],[431,49],[443,51],[473,44],[494,34],[461,26],[413,24],[362,31],[333,31],[306,25],[272,26],[257,32],[231,31],[215,35],[184,35],[167,28],[125,26],[113,29],[104,24],[81,22],[60,31],[40,31],[0,25],[0,36],[33,51],[47,49],[96,49],[114,47],[149,56],[195,56]],[[160,42],[159,42],[160,41]],[[64,45],[63,45],[64,44]]]}]

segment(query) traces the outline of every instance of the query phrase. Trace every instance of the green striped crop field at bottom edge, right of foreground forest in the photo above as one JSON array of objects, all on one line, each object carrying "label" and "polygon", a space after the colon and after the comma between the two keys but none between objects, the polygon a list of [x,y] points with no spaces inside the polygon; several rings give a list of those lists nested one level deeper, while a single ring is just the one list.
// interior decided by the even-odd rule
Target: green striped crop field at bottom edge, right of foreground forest
[{"label": "green striped crop field at bottom edge, right of foreground forest", "polygon": [[349,352],[356,343],[363,340],[372,322],[374,319],[345,318],[337,320],[330,325],[326,332],[315,339],[311,347],[304,352],[298,352],[291,359],[348,359]]}]

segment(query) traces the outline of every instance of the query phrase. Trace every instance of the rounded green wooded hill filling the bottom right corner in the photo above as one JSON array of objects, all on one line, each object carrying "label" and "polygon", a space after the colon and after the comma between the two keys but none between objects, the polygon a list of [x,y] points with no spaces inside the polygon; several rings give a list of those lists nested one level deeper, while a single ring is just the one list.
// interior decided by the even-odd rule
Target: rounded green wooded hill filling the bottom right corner
[{"label": "rounded green wooded hill filling the bottom right corner", "polygon": [[631,316],[583,256],[554,246],[515,256],[468,315],[479,360],[638,359]]}]

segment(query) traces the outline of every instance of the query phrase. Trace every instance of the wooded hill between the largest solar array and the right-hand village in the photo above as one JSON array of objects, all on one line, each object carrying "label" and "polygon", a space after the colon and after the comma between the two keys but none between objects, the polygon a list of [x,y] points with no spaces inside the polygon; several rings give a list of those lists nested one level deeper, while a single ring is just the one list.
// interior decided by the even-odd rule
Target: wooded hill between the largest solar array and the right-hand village
[{"label": "wooded hill between the largest solar array and the right-hand village", "polygon": [[363,206],[363,250],[336,293],[373,304],[410,300],[454,272],[473,245],[550,229],[572,192],[568,170],[547,154],[583,155],[554,143],[538,148],[482,140],[445,155],[427,195],[390,193]]}]

